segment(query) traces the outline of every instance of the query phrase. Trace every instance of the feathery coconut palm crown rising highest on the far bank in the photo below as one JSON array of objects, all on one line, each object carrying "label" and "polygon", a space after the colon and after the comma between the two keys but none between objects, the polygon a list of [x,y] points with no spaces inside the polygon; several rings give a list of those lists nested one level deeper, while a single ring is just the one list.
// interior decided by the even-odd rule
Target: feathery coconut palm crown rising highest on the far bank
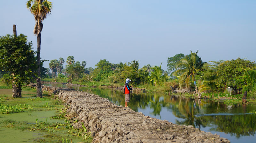
[{"label": "feathery coconut palm crown rising highest on the far bank", "polygon": [[196,53],[190,52],[190,55],[186,55],[185,58],[181,59],[177,64],[176,68],[178,68],[178,70],[174,72],[174,75],[180,73],[182,74],[181,76],[187,76],[187,78],[192,77],[192,81],[195,81],[194,76],[196,72],[203,67],[207,67],[208,63],[202,62],[202,59],[197,56],[198,50]]}]

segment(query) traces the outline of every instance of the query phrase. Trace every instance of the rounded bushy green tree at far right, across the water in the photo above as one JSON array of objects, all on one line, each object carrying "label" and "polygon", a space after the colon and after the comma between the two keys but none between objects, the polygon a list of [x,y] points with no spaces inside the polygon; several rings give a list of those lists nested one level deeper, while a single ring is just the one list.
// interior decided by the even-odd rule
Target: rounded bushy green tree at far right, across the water
[{"label": "rounded bushy green tree at far right, across the water", "polygon": [[241,91],[242,86],[246,83],[244,73],[256,69],[255,62],[240,58],[230,61],[216,61],[213,64],[216,65],[214,68],[218,76],[217,86],[222,87],[223,90],[225,87],[231,87],[235,93],[237,89]]}]

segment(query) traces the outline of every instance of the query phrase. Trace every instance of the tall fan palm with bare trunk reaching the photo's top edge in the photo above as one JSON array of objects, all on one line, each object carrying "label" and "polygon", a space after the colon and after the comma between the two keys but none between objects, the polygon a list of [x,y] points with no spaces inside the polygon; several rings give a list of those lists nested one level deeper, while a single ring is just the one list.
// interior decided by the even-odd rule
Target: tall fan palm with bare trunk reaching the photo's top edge
[{"label": "tall fan palm with bare trunk reaching the photo's top edge", "polygon": [[42,21],[51,14],[52,2],[47,0],[29,0],[27,1],[27,9],[34,15],[36,25],[34,27],[34,35],[37,35],[37,92],[36,97],[42,96],[41,75],[40,75],[40,50],[41,50],[41,31],[43,29]]}]

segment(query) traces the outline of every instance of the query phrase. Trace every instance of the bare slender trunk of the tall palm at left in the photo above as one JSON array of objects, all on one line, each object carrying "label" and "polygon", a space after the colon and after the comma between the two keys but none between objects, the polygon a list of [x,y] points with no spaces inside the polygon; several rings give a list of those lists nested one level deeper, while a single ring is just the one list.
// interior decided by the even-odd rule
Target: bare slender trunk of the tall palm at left
[{"label": "bare slender trunk of the tall palm at left", "polygon": [[41,75],[40,75],[40,50],[41,50],[41,33],[37,35],[37,90],[36,97],[42,98]]}]

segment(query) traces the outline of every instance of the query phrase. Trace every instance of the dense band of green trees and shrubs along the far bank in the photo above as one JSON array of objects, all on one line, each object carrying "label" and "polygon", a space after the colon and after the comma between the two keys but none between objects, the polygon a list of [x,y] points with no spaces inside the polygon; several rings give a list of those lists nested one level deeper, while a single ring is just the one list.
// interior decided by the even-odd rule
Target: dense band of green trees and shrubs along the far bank
[{"label": "dense band of green trees and shrubs along the far bank", "polygon": [[[73,56],[67,59],[70,61],[67,62],[69,65],[66,69],[62,70],[65,72],[58,73],[58,77],[54,79],[46,78],[44,81],[71,82],[89,87],[119,87],[129,78],[134,88],[143,88],[146,92],[172,92],[172,89],[185,88],[192,93],[186,95],[189,97],[241,100],[241,94],[248,91],[249,100],[256,98],[256,79],[253,71],[256,64],[240,58],[206,63],[198,56],[198,51],[190,51],[189,55],[177,54],[168,58],[168,71],[161,69],[162,64],[148,64],[139,68],[139,60],[128,64],[113,64],[104,59],[93,69],[83,68],[80,62],[75,62]],[[75,72],[76,66],[78,70]],[[228,88],[231,89],[227,91]]]}]

